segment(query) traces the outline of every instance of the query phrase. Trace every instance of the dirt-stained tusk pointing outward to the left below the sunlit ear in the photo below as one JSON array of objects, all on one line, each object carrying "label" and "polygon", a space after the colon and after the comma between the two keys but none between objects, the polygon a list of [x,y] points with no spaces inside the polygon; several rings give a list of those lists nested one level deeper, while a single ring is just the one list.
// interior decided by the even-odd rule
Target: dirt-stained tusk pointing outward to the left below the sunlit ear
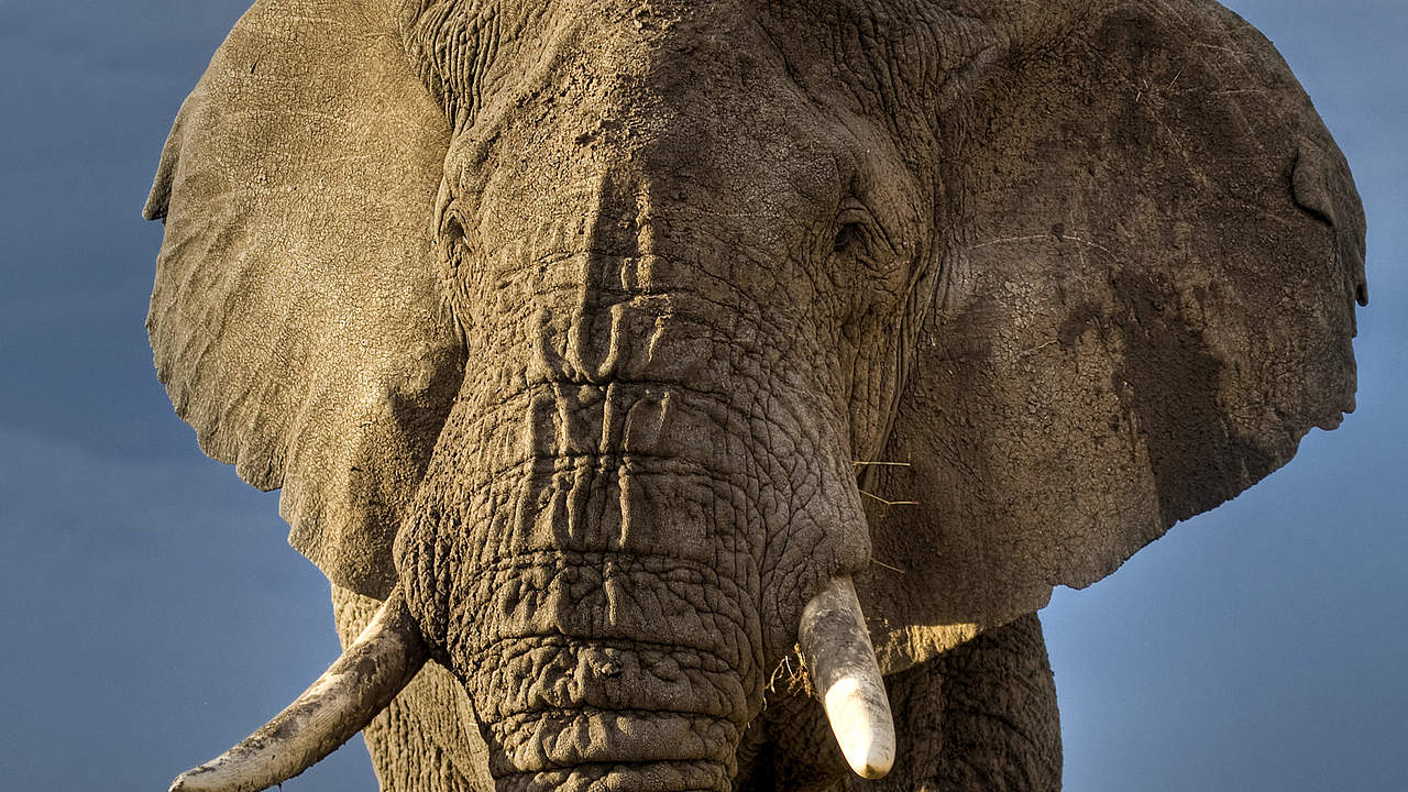
[{"label": "dirt-stained tusk pointing outward to the left below the sunlit ear", "polygon": [[317,682],[242,743],[180,774],[170,792],[255,792],[308,769],[366,727],[425,665],[397,588]]}]

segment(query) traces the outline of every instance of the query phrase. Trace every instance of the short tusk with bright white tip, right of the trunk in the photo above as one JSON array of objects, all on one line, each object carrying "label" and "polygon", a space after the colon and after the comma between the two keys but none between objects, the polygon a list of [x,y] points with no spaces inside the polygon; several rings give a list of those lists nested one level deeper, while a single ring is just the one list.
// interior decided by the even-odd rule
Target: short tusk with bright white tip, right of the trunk
[{"label": "short tusk with bright white tip, right of the trunk", "polygon": [[797,643],[850,769],[883,778],[894,765],[894,719],[850,578],[834,578],[807,603]]}]

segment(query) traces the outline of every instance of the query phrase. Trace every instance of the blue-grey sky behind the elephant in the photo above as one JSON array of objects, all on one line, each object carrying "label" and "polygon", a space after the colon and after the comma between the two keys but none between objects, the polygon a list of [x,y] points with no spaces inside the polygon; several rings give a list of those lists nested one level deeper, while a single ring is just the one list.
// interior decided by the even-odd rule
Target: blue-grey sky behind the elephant
[{"label": "blue-grey sky behind the elephant", "polygon": [[[1043,613],[1067,789],[1408,788],[1408,4],[1236,0],[1369,211],[1359,412]],[[138,211],[242,0],[0,1],[0,788],[159,791],[338,654],[277,495],[156,385]],[[287,792],[373,789],[355,740]]]}]

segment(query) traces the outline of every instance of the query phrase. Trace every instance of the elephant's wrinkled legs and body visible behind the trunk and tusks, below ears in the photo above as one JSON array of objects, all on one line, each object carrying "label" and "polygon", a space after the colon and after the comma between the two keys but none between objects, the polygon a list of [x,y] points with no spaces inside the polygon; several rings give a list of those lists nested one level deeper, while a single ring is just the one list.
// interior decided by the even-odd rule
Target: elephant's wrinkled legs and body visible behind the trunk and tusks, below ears
[{"label": "elephant's wrinkled legs and body visible behind the trunk and tusks, below ears", "polygon": [[[377,600],[334,589],[351,641]],[[736,789],[1059,789],[1056,689],[1036,616],[991,630],[887,679],[904,757],[884,779],[845,765],[821,706],[787,681],[739,745]],[[473,706],[455,676],[428,667],[363,736],[383,789],[493,789]]]}]

